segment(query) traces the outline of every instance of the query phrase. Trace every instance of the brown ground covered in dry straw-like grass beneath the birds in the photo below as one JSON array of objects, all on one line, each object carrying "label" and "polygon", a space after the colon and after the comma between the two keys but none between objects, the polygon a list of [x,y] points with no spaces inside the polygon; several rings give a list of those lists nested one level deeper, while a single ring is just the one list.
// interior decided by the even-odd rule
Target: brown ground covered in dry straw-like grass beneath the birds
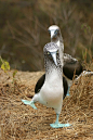
[{"label": "brown ground covered in dry straw-like grass beneath the birds", "polygon": [[93,76],[81,77],[72,85],[59,116],[67,128],[51,128],[53,109],[36,103],[34,110],[21,99],[31,100],[35,85],[43,72],[5,74],[0,69],[0,140],[93,140]]}]

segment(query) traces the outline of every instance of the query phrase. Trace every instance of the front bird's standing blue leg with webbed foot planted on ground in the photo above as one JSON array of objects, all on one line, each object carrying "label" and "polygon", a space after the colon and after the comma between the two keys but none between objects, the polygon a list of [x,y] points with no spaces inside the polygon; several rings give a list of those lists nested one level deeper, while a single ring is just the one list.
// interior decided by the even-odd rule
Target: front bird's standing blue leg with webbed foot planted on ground
[{"label": "front bird's standing blue leg with webbed foot planted on ground", "polygon": [[55,123],[54,124],[50,124],[50,126],[52,128],[61,128],[61,127],[68,127],[68,126],[70,126],[70,124],[59,124],[58,116],[59,116],[59,114],[56,114],[56,120],[55,120]]}]

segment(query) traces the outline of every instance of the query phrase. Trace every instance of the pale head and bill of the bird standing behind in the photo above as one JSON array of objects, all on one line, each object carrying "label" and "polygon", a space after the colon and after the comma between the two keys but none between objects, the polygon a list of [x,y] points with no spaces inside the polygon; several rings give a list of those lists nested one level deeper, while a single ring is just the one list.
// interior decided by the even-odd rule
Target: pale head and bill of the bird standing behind
[{"label": "pale head and bill of the bird standing behind", "polygon": [[48,28],[51,39],[59,37],[59,27],[57,25],[52,25]]}]

